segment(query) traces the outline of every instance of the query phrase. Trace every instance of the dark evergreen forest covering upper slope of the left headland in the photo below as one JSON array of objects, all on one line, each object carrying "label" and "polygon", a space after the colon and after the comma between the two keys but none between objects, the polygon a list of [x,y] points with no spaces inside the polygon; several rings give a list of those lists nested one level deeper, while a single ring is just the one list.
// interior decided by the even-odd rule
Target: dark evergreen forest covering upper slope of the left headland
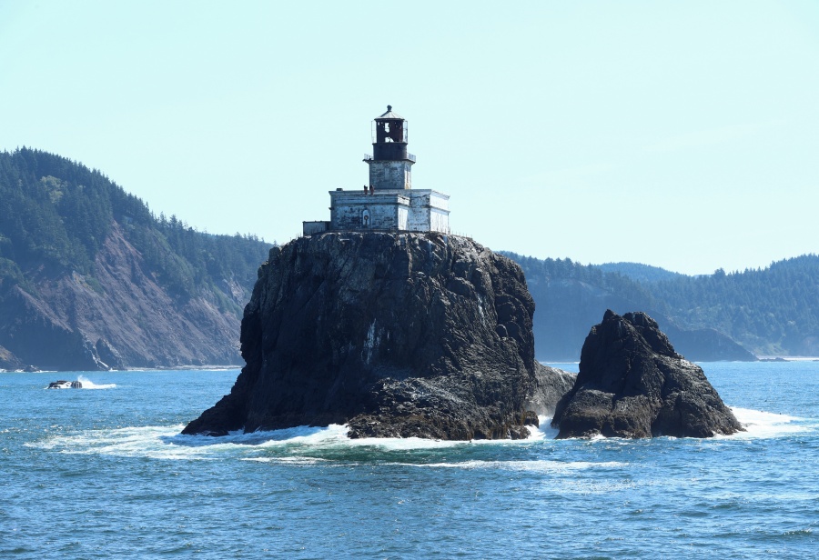
[{"label": "dark evergreen forest covering upper slope of the left headland", "polygon": [[256,235],[210,235],[176,216],[157,217],[106,175],[65,157],[25,147],[0,153],[0,296],[11,285],[35,290],[39,275],[93,280],[115,225],[178,298],[214,287],[224,293],[231,282],[249,289],[270,247]]}]

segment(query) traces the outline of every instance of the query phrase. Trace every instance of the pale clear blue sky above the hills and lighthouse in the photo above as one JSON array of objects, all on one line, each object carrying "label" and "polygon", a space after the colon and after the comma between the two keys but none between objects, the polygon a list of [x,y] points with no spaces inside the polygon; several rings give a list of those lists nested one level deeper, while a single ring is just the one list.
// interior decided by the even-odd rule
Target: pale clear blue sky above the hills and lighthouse
[{"label": "pale clear blue sky above the hills and lighthouse", "polygon": [[[369,182],[494,250],[685,274],[819,252],[819,2],[0,0],[0,150],[285,243]],[[2,216],[0,216],[2,219]]]}]

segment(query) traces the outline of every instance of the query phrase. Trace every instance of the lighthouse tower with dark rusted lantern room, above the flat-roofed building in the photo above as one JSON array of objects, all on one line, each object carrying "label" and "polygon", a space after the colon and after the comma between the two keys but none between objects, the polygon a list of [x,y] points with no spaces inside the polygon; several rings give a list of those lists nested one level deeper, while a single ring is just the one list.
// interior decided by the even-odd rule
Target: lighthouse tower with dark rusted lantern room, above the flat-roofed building
[{"label": "lighthouse tower with dark rusted lantern room, above the flat-roofed building", "polygon": [[369,185],[379,190],[412,188],[415,155],[407,151],[407,121],[387,105],[387,113],[375,118],[373,128],[372,157],[364,158],[369,165]]}]

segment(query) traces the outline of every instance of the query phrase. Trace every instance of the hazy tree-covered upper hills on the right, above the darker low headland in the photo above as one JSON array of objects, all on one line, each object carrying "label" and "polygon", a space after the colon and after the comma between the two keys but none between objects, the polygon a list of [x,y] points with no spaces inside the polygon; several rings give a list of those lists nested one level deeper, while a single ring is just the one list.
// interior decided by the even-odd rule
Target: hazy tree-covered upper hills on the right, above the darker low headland
[{"label": "hazy tree-covered upper hills on the right, above the darker low headland", "polygon": [[567,280],[595,286],[683,328],[714,328],[757,355],[819,355],[817,255],[697,276],[632,263],[581,265],[568,258],[506,255],[521,265],[530,284]]}]

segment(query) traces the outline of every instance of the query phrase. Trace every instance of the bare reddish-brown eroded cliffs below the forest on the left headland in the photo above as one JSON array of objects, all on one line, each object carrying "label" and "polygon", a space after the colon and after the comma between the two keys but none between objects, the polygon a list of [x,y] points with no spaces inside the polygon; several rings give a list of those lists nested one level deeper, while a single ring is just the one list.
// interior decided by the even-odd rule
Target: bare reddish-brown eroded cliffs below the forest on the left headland
[{"label": "bare reddish-brown eroded cliffs below the forest on the left headland", "polygon": [[[96,285],[78,274],[35,276],[0,299],[0,367],[99,370],[241,363],[239,320],[213,293],[185,302],[157,283],[113,225],[96,255]],[[214,291],[215,292],[215,291]],[[238,301],[247,297],[239,295]],[[13,353],[13,354],[12,354]],[[6,364],[6,365],[4,365]]]}]

